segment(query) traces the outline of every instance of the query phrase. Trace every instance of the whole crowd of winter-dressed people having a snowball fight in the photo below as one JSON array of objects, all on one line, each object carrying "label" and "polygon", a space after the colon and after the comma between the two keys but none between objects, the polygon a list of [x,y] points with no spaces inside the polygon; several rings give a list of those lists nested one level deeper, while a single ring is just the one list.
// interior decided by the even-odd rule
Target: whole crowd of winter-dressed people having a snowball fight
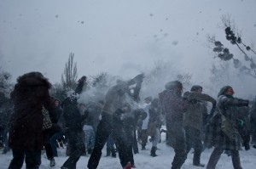
[{"label": "whole crowd of winter-dressed people having a snowball fight", "polygon": [[[157,96],[141,99],[143,78],[139,74],[118,81],[104,99],[81,103],[86,76],[64,100],[50,96],[51,84],[40,72],[19,76],[10,97],[0,93],[0,144],[3,154],[12,151],[9,169],[20,169],[24,161],[26,169],[38,169],[42,149],[49,166],[55,166],[57,147],[64,144],[68,158],[61,169],[75,169],[81,155],[90,155],[87,167],[96,169],[105,145],[107,155],[118,154],[122,168],[131,169],[136,167],[133,155],[150,142],[150,156],[157,156],[161,132],[166,132],[166,144],[175,152],[172,169],[183,166],[192,148],[194,166],[214,169],[220,155],[227,153],[234,168],[242,168],[241,146],[248,150],[256,144],[255,100],[235,98],[231,86],[220,88],[218,99],[203,93],[199,85],[183,93],[179,81],[167,82]],[[201,164],[202,151],[212,147],[208,163]]]}]

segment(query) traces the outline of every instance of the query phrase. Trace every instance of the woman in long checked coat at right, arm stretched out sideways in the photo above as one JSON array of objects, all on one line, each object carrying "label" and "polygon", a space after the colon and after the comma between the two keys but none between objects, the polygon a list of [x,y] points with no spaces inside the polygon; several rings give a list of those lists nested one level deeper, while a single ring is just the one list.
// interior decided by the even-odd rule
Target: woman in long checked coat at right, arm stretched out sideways
[{"label": "woman in long checked coat at right, arm stretched out sideways", "polygon": [[[236,99],[233,97],[233,94],[233,88],[230,86],[222,87],[218,93],[217,110],[214,116],[216,123],[213,124],[215,128],[218,127],[218,130],[216,129],[214,132],[215,136],[212,136],[212,138],[214,138],[214,149],[208,161],[207,169],[215,168],[220,155],[224,152],[224,149],[230,150],[234,168],[241,169],[241,161],[239,156],[241,140],[237,130],[235,114],[239,113],[237,112],[238,107],[248,106],[249,101],[244,99]],[[221,115],[224,115],[226,119],[230,120],[232,127],[234,127],[235,132],[233,133],[233,138],[230,138],[220,129],[222,125]]]}]

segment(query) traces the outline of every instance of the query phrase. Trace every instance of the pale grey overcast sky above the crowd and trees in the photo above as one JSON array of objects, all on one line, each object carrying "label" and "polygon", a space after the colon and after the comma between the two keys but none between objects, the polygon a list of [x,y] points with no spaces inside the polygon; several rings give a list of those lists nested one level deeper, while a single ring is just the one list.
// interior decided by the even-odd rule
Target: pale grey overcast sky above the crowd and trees
[{"label": "pale grey overcast sky above the crowd and trees", "polygon": [[206,81],[223,14],[255,42],[255,0],[1,0],[0,66],[14,81],[38,70],[60,82],[73,52],[79,76],[131,77],[160,60]]}]

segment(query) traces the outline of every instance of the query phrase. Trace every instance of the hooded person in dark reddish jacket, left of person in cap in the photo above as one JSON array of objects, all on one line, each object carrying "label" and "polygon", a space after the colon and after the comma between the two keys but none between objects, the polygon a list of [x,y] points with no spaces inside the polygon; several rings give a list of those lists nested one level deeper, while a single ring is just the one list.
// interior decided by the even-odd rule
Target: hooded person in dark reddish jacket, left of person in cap
[{"label": "hooded person in dark reddish jacket, left of person in cap", "polygon": [[187,101],[182,98],[183,84],[178,81],[166,83],[166,90],[159,93],[160,107],[166,114],[166,128],[171,138],[175,155],[172,169],[179,169],[187,158],[186,138],[183,128],[183,113],[187,109]]}]

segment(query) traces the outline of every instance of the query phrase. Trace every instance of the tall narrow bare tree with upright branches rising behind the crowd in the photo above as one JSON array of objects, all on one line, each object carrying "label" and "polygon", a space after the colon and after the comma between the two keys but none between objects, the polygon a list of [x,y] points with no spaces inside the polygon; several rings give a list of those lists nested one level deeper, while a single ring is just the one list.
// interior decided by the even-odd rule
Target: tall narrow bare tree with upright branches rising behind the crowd
[{"label": "tall narrow bare tree with upright branches rising behind the crowd", "polygon": [[77,63],[73,61],[74,54],[70,53],[65,64],[64,74],[61,75],[61,84],[64,88],[73,89],[78,78]]}]

